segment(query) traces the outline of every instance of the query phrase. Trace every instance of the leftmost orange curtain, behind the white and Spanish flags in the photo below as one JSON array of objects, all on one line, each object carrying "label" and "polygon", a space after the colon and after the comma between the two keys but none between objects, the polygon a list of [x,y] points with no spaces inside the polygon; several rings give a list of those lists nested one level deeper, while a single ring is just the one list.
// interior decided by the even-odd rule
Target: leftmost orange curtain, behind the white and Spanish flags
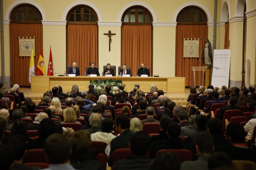
[{"label": "leftmost orange curtain, behind the white and Spanish flags", "polygon": [[11,44],[11,85],[30,86],[28,82],[28,70],[30,55],[19,56],[19,39],[16,37],[37,37],[35,39],[35,69],[38,62],[41,46],[43,45],[42,24],[10,24],[10,44]]}]

